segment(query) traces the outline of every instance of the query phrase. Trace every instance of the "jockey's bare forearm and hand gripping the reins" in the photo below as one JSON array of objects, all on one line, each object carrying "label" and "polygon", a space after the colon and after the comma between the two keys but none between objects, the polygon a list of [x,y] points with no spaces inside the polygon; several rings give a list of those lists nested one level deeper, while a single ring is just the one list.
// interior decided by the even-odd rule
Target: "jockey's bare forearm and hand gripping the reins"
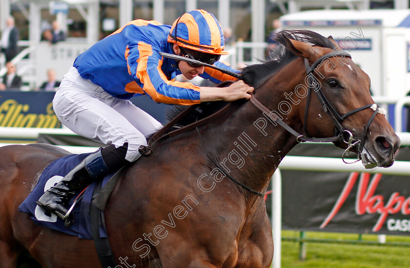
[{"label": "jockey's bare forearm and hand gripping the reins", "polygon": [[251,92],[253,92],[253,87],[239,80],[225,88],[201,87],[200,98],[201,102],[216,100],[234,101],[241,98],[250,99],[251,96],[248,93]]}]

